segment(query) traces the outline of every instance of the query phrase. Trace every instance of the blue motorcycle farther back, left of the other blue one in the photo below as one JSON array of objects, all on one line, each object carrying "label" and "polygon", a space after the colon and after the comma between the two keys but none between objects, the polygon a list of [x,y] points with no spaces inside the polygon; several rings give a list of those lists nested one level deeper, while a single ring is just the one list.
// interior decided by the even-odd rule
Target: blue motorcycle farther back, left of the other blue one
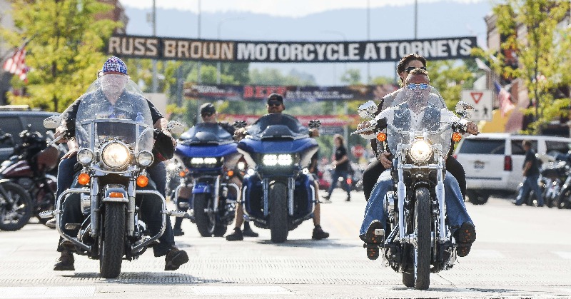
[{"label": "blue motorcycle farther back, left of the other blue one", "polygon": [[224,235],[240,194],[230,183],[242,156],[233,136],[217,123],[198,123],[181,135],[175,155],[185,168],[175,191],[176,205],[191,208],[191,221],[203,237]]}]

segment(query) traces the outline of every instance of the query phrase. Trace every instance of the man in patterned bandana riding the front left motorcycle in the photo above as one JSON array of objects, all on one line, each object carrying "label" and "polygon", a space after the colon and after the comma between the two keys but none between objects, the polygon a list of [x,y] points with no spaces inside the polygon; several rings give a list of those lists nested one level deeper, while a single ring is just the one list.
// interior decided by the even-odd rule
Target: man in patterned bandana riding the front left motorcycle
[{"label": "man in patterned bandana riding the front left motorcycle", "polygon": [[[125,76],[125,80],[121,81],[121,84],[118,84],[117,89],[111,91],[111,88],[106,88],[104,91],[106,98],[111,104],[113,105],[116,103],[120,96],[135,96],[132,93],[127,93],[125,86],[128,82],[128,74],[127,74],[127,66],[126,64],[118,59],[115,56],[111,56],[105,64],[103,64],[103,68],[101,69],[101,80],[103,80],[107,75],[121,75]],[[113,84],[110,84],[111,87]],[[58,181],[57,181],[57,193],[56,195],[59,197],[63,191],[66,189],[71,188],[71,184],[74,182],[74,173],[79,171],[79,168],[75,168],[77,164],[77,151],[79,150],[79,146],[75,141],[75,126],[76,126],[76,116],[77,111],[79,108],[79,103],[81,103],[80,97],[74,103],[71,104],[64,113],[61,113],[62,118],[62,125],[56,130],[56,136],[61,136],[62,133],[68,132],[71,136],[69,140],[67,140],[67,145],[69,147],[69,152],[66,153],[64,157],[62,157],[61,162],[59,163],[58,168]],[[134,99],[134,98],[133,98]],[[171,136],[171,133],[166,130],[166,118],[158,111],[158,109],[148,101],[148,106],[151,109],[151,117],[153,118],[153,124],[158,131],[158,135],[156,138],[160,140],[162,143],[159,144],[156,141],[153,153],[155,153],[155,161],[153,164],[147,168],[148,178],[150,178],[155,184],[157,191],[161,193],[162,196],[165,196],[165,188],[166,188],[166,168],[162,161],[158,161],[157,157],[161,156],[160,151],[156,151],[157,148],[173,148],[176,144],[176,141]],[[61,142],[65,142],[65,139],[62,139]],[[170,144],[169,144],[170,143]],[[80,220],[81,222],[81,211],[79,209],[71,209],[71,211],[65,210],[66,203],[64,202],[64,218],[69,221],[66,223],[77,223],[74,221]],[[156,234],[159,230],[161,230],[161,208],[162,205],[158,201],[143,201],[143,206],[141,206],[141,213],[148,214],[148,221],[147,225],[151,233]],[[180,250],[176,247],[174,242],[174,235],[171,226],[171,219],[169,217],[166,218],[166,225],[165,231],[161,238],[158,238],[160,243],[158,245],[153,246],[153,252],[156,257],[166,255],[165,257],[165,270],[176,270],[180,267],[183,263],[188,262],[188,254],[185,250]],[[54,270],[75,270],[74,267],[74,255],[69,249],[71,242],[67,240],[63,240],[60,238],[60,242],[58,245],[58,251],[61,252],[61,256],[58,258],[56,265],[54,265]]]}]

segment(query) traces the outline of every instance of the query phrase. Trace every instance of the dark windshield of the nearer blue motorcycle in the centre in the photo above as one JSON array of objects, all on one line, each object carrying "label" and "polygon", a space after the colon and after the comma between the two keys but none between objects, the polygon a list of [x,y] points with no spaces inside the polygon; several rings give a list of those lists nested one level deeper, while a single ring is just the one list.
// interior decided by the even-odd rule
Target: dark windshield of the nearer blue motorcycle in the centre
[{"label": "dark windshield of the nearer blue motorcycle in the centre", "polygon": [[309,136],[297,118],[284,113],[268,113],[253,123],[248,134],[254,139],[264,138],[305,138]]}]

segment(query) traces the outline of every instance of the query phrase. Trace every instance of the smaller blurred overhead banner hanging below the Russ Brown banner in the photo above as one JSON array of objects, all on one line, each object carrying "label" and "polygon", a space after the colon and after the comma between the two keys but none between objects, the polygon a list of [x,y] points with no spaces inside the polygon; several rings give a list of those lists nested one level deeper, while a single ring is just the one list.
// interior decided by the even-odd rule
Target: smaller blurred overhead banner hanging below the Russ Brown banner
[{"label": "smaller blurred overhead banner hanging below the Russ Brown banner", "polygon": [[280,93],[288,102],[378,101],[398,89],[395,84],[355,86],[266,86],[203,85],[185,83],[184,96],[211,101],[260,101],[270,93]]}]

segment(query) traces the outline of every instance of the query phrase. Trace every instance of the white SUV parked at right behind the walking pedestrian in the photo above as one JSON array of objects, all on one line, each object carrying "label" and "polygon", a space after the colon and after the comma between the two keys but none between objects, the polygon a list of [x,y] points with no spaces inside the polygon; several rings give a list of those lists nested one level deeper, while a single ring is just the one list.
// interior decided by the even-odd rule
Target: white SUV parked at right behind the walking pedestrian
[{"label": "white SUV parked at right behind the walking pedestrian", "polygon": [[463,138],[455,157],[466,172],[467,196],[474,204],[487,202],[490,195],[512,195],[522,182],[525,151],[522,141],[529,140],[538,156],[567,153],[571,138],[526,136],[510,133],[482,133]]}]

